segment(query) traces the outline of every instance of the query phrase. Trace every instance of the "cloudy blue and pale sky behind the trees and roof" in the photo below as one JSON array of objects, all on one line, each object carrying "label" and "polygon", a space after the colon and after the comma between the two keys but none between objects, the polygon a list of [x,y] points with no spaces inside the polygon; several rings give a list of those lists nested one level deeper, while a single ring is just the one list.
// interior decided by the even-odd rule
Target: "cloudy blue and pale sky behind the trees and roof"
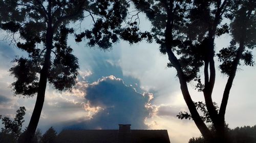
[{"label": "cloudy blue and pale sky behind the trees and roof", "polygon": [[[140,25],[150,28],[146,19]],[[216,50],[228,45],[230,37],[216,40]],[[118,124],[131,124],[132,129],[166,129],[170,141],[188,142],[200,136],[193,121],[179,120],[179,111],[187,111],[175,69],[167,68],[168,58],[155,43],[130,45],[119,41],[108,51],[76,43],[68,44],[79,60],[77,85],[71,91],[58,92],[48,84],[38,128],[45,132],[53,126],[62,129],[118,129]],[[255,50],[253,51],[255,55]],[[14,118],[19,106],[25,106],[24,127],[28,126],[35,97],[13,96],[10,84],[11,61],[26,53],[9,42],[0,41],[0,115]],[[255,57],[254,57],[255,59]],[[217,61],[217,60],[216,60]],[[216,64],[218,69],[218,62]],[[256,69],[240,66],[234,79],[226,110],[230,128],[256,124]],[[217,71],[213,99],[220,105],[227,77]],[[195,83],[188,83],[194,101],[204,101]],[[3,125],[1,125],[2,127]]]}]

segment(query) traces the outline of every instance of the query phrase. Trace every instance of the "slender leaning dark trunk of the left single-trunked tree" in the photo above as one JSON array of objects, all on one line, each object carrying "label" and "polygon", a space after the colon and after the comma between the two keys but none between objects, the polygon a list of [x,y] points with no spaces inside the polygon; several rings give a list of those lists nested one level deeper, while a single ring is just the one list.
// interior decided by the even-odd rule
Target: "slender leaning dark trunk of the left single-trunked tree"
[{"label": "slender leaning dark trunk of the left single-trunked tree", "polygon": [[34,134],[40,119],[42,107],[45,101],[47,78],[48,78],[49,69],[50,69],[52,43],[53,43],[53,30],[52,30],[52,27],[49,26],[47,28],[47,33],[46,33],[46,54],[44,59],[44,65],[40,70],[40,78],[39,78],[35,107],[34,107],[27,130],[18,139],[19,143],[31,142],[32,138],[34,137]]}]

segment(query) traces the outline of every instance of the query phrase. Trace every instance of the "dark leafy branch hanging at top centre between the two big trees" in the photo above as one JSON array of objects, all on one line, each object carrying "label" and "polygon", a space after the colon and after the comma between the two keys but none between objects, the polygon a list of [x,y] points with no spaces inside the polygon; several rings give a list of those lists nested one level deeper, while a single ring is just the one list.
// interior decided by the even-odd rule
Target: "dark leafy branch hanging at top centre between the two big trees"
[{"label": "dark leafy branch hanging at top centre between the two big trees", "polygon": [[88,10],[94,22],[93,28],[76,34],[76,42],[81,42],[83,38],[86,38],[89,40],[89,46],[98,45],[101,49],[109,49],[113,43],[118,41],[121,23],[127,16],[128,7],[129,4],[124,0],[97,0],[90,5]]}]

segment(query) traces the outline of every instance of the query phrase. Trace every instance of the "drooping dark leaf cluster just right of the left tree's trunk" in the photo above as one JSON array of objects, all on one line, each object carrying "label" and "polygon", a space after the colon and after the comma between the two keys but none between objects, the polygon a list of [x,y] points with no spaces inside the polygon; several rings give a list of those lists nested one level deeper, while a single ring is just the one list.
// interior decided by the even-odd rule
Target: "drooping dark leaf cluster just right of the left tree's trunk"
[{"label": "drooping dark leaf cluster just right of the left tree's trunk", "polygon": [[61,25],[55,35],[55,58],[49,70],[48,81],[59,91],[71,90],[76,84],[78,59],[72,54],[73,49],[67,45],[68,34],[73,33],[72,28]]}]

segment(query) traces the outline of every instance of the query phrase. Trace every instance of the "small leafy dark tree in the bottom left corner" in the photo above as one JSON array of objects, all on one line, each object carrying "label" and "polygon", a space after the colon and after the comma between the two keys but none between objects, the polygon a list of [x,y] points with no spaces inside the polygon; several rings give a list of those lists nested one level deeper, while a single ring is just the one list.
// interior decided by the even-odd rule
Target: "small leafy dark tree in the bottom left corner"
[{"label": "small leafy dark tree in the bottom left corner", "polygon": [[0,133],[0,142],[16,142],[19,135],[22,133],[22,124],[24,123],[25,116],[25,107],[19,107],[16,111],[16,116],[12,121],[8,117],[2,118],[0,115],[0,119],[2,119],[2,124],[4,124],[4,128],[2,128],[2,132]]}]

